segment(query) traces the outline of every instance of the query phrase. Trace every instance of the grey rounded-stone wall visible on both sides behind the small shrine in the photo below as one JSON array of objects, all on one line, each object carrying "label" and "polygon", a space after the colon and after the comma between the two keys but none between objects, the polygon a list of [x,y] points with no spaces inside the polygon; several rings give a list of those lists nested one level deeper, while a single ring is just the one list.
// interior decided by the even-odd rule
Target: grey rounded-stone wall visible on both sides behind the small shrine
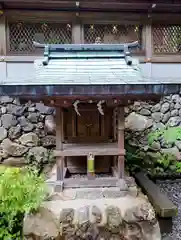
[{"label": "grey rounded-stone wall visible on both sides behind the small shrine", "polygon": [[[0,98],[0,161],[4,164],[25,163],[25,156],[35,155],[37,161],[55,147],[54,109],[42,103],[20,104],[8,96]],[[181,97],[171,95],[160,102],[140,102],[125,107],[126,139],[132,146],[148,148],[148,133],[165,126],[181,126]],[[50,124],[49,124],[50,123]],[[179,154],[181,141],[152,144],[153,150]],[[42,157],[43,156],[43,157]]]}]

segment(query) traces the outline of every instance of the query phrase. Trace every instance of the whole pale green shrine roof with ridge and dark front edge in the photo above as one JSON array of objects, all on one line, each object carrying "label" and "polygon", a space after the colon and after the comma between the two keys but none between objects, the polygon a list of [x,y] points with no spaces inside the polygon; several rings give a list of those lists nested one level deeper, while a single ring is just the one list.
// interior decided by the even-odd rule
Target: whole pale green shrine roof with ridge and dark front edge
[{"label": "whole pale green shrine roof with ridge and dark front edge", "polygon": [[62,97],[151,97],[181,91],[181,80],[142,75],[131,56],[137,42],[128,44],[39,44],[44,58],[35,60],[35,75],[7,77],[0,95]]}]

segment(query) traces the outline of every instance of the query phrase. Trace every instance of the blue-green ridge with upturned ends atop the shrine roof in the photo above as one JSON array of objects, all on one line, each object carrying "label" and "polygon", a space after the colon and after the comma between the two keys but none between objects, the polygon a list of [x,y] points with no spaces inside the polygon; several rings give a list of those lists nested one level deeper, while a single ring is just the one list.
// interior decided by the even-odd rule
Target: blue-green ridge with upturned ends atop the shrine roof
[{"label": "blue-green ridge with upturned ends atop the shrine roof", "polygon": [[[35,47],[44,48],[43,65],[48,65],[50,59],[61,58],[91,58],[91,54],[95,54],[94,58],[124,58],[126,64],[132,64],[130,49],[137,48],[138,42],[122,43],[122,44],[40,44],[34,42]],[[118,53],[113,56],[111,53]],[[71,53],[72,56],[64,56],[63,54]],[[82,56],[81,53],[87,53]],[[107,53],[110,56],[103,56],[101,54]],[[77,55],[76,55],[77,54]],[[93,58],[93,57],[92,57]]]}]

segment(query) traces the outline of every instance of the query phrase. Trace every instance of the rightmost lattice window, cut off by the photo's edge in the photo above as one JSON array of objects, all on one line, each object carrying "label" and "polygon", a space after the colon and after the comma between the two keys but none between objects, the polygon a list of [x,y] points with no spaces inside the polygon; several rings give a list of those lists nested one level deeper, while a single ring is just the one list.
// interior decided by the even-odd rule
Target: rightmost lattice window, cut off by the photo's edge
[{"label": "rightmost lattice window, cut off by the photo's edge", "polygon": [[152,34],[154,53],[181,52],[181,25],[156,25]]}]

